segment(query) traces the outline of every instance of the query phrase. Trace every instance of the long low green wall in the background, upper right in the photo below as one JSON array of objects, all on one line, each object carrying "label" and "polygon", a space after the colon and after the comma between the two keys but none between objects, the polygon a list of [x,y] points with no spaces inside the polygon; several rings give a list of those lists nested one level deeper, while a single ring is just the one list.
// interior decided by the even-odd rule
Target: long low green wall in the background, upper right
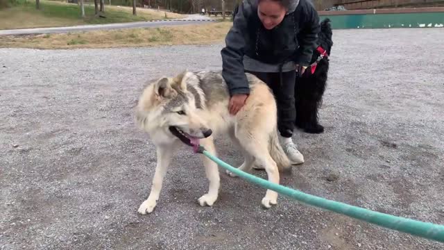
[{"label": "long low green wall in the background, upper right", "polygon": [[319,15],[319,17],[321,20],[330,18],[334,29],[444,27],[444,12]]}]

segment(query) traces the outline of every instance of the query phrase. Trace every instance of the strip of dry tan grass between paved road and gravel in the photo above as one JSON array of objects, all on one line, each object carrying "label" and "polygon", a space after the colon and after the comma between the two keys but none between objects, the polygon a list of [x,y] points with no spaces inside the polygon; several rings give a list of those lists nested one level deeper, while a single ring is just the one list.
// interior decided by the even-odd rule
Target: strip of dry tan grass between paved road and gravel
[{"label": "strip of dry tan grass between paved road and gravel", "polygon": [[113,31],[46,35],[0,36],[0,47],[33,49],[78,49],[112,47],[152,47],[175,44],[221,42],[231,24],[190,24],[161,28],[128,28]]}]

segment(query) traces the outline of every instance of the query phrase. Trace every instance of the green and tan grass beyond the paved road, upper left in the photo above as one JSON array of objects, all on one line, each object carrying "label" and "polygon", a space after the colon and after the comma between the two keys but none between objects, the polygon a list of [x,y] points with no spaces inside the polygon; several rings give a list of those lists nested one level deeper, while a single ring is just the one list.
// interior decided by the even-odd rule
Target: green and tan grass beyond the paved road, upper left
[{"label": "green and tan grass beyond the paved road, upper left", "polygon": [[[5,0],[0,0],[5,1]],[[133,15],[128,8],[119,9],[105,4],[106,18],[95,17],[94,4],[85,5],[85,18],[80,16],[80,6],[56,1],[40,1],[40,10],[35,1],[8,0],[10,8],[0,9],[0,29],[33,28],[48,26],[73,26],[80,24],[110,24],[163,19],[159,15],[138,11]]]}]

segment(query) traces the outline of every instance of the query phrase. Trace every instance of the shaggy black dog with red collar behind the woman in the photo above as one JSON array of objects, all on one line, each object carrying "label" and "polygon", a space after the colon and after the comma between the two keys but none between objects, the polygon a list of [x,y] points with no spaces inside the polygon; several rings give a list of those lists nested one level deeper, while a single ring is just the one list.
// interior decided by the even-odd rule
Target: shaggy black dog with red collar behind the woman
[{"label": "shaggy black dog with red collar behind the woman", "polygon": [[318,47],[311,58],[311,66],[302,76],[296,77],[295,106],[296,126],[306,133],[323,133],[324,127],[318,122],[318,108],[327,84],[330,51],[333,46],[330,19],[321,22],[318,33]]}]

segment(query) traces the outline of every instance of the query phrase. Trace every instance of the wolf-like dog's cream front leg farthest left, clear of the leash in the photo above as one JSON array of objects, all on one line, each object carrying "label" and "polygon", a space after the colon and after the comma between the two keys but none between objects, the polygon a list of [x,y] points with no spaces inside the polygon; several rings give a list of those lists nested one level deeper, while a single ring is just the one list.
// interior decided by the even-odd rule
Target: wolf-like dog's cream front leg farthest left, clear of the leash
[{"label": "wolf-like dog's cream front leg farthest left, clear of the leash", "polygon": [[169,163],[171,162],[171,156],[173,154],[173,147],[157,147],[157,165],[155,167],[155,173],[153,177],[153,184],[151,185],[151,192],[148,199],[144,201],[137,210],[140,214],[146,215],[146,213],[153,212],[157,200],[159,199],[160,190],[162,190],[162,182],[164,180],[165,174],[167,174],[167,169]]}]

